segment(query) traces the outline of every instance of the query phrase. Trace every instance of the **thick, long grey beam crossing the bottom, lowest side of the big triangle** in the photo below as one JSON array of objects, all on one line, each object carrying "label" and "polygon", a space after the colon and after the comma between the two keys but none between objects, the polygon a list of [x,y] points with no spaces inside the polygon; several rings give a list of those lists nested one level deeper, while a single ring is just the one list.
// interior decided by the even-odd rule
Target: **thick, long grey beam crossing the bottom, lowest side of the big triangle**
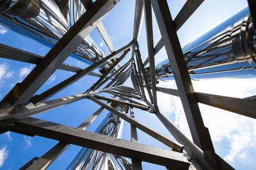
[{"label": "thick, long grey beam crossing the bottom, lowest side of the big triangle", "polygon": [[189,168],[188,160],[179,152],[125,141],[123,139],[109,137],[108,135],[97,134],[32,117],[16,121],[13,131],[39,135],[73,145],[108,152],[110,154],[164,165],[170,169]]}]

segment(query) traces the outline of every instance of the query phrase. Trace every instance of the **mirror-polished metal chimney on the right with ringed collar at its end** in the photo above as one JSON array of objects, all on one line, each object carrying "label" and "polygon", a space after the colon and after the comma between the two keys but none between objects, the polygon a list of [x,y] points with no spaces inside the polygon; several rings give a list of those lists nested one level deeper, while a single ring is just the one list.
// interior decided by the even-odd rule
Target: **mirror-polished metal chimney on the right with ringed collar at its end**
[{"label": "mirror-polished metal chimney on the right with ringed collar at its end", "polygon": [[[249,8],[245,8],[187,44],[183,54],[190,75],[225,72],[236,76],[239,70],[256,75],[255,48],[253,23]],[[173,76],[168,59],[156,66],[156,76],[160,79]]]}]

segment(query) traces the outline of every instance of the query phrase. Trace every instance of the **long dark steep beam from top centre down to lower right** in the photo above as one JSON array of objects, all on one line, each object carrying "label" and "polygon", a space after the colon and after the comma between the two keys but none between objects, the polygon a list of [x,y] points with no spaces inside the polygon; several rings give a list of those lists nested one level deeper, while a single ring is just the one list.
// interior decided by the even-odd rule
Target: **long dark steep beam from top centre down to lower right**
[{"label": "long dark steep beam from top centre down to lower right", "polygon": [[164,40],[167,56],[171,63],[193,142],[204,151],[205,157],[214,167],[221,168],[216,161],[216,154],[209,131],[205,128],[201,117],[168,4],[166,1],[160,0],[151,0],[151,3]]}]

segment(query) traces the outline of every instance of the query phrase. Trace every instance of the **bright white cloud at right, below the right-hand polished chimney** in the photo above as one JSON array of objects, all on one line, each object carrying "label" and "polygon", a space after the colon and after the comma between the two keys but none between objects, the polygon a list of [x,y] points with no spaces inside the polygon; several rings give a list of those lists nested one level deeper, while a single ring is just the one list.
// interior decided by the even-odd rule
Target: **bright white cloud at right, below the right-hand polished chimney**
[{"label": "bright white cloud at right, below the right-hand polished chimney", "polygon": [[[193,81],[196,92],[215,94],[222,96],[244,98],[256,94],[256,79],[202,79]],[[174,81],[160,82],[159,87],[176,88]],[[191,137],[187,120],[180,99],[174,96],[158,93],[158,104],[161,112],[166,114],[183,133]],[[224,159],[230,163],[236,160],[251,163],[250,152],[256,151],[256,120],[240,116],[239,114],[224,111],[222,109],[199,104],[204,120],[204,125],[209,129],[213,142],[228,141],[230,148],[225,153]],[[218,153],[217,153],[218,154]]]}]

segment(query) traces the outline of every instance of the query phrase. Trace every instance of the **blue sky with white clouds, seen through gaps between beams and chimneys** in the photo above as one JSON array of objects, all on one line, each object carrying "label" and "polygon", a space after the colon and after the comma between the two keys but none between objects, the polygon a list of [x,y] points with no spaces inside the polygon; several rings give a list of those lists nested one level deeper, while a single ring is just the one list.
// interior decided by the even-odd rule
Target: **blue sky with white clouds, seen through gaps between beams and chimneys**
[{"label": "blue sky with white clouds, seen through gaps between beams and chimneys", "polygon": [[[180,8],[185,3],[182,1],[168,1],[171,9],[172,18],[175,18]],[[102,21],[106,31],[109,33],[110,39],[113,42],[115,50],[128,44],[133,39],[133,21],[134,21],[134,6],[135,1],[121,0],[116,7]],[[217,24],[220,24],[230,16],[236,14],[247,6],[247,1],[213,1],[208,0],[197,9],[197,11],[188,19],[188,21],[177,32],[181,46],[195,40],[203,33],[209,31]],[[160,39],[160,32],[157,27],[155,18],[154,24],[154,43]],[[146,32],[144,31],[144,23],[142,25],[141,38],[139,46],[141,49],[142,59],[147,57]],[[94,40],[98,42],[105,50],[106,54],[110,54],[105,43],[102,41],[97,29],[91,33]],[[33,40],[26,39],[6,28],[0,28],[0,43],[14,46],[22,50],[27,50],[35,54],[44,56],[49,48],[43,46]],[[128,56],[131,53],[128,54]],[[129,59],[129,57],[127,57]],[[125,63],[124,59],[122,63]],[[159,63],[166,59],[164,48],[155,56],[155,63]],[[65,63],[85,68],[87,65],[73,58],[68,58]],[[0,58],[0,99],[13,88],[17,82],[22,82],[26,75],[34,68],[34,65],[22,63],[18,61],[10,61]],[[55,84],[73,75],[68,71],[57,70],[51,78],[43,85],[36,93],[40,94]],[[59,92],[51,99],[80,94],[86,91],[97,80],[93,76],[85,76],[70,87]],[[205,92],[209,94],[217,94],[233,97],[247,97],[256,94],[256,79],[203,79],[200,81],[192,81],[195,91]],[[127,82],[126,84],[130,84]],[[160,82],[158,86],[175,88],[175,82]],[[179,128],[189,135],[187,122],[184,117],[183,108],[180,99],[175,96],[164,95],[158,93],[158,103],[160,111],[168,116],[170,120],[175,122]],[[84,99],[77,103],[67,105],[65,107],[54,109],[46,113],[39,114],[37,118],[57,122],[68,126],[76,127],[81,124],[87,117],[98,109],[98,105],[92,101]],[[256,168],[256,121],[247,117],[243,117],[234,113],[225,112],[220,109],[208,107],[200,104],[201,113],[204,119],[205,126],[209,128],[214,148],[218,155],[224,158],[236,169],[255,169]],[[87,130],[94,131],[97,124],[108,113],[104,111],[97,119],[89,126]],[[145,118],[146,117],[146,118]],[[170,133],[152,114],[135,109],[135,118],[150,126],[153,129],[160,131],[171,137]],[[148,137],[148,135],[139,132],[139,142],[169,149],[162,143]],[[125,124],[123,131],[123,139],[130,140],[129,124]],[[18,169],[26,164],[34,156],[42,156],[46,151],[53,147],[57,141],[42,137],[26,137],[15,133],[5,133],[0,135],[0,169]],[[150,141],[150,143],[148,143]],[[49,169],[64,169],[68,166],[71,160],[75,157],[81,147],[70,146]],[[15,161],[14,161],[15,160]],[[164,167],[143,163],[145,169],[165,169]]]}]

